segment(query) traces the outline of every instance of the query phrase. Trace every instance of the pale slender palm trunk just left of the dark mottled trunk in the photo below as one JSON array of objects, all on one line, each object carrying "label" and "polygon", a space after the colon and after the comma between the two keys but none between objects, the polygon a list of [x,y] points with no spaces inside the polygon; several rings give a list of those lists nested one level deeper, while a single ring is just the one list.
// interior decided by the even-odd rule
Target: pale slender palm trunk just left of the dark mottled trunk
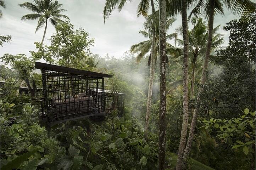
[{"label": "pale slender palm trunk just left of the dark mottled trunk", "polygon": [[[152,13],[155,12],[154,1],[151,0]],[[153,21],[152,21],[153,23]],[[152,33],[152,44],[151,44],[151,58],[150,58],[150,75],[149,75],[149,92],[148,92],[148,102],[147,102],[147,111],[146,111],[146,120],[145,120],[145,138],[148,138],[148,130],[149,130],[149,117],[150,117],[150,107],[151,107],[151,97],[153,91],[153,82],[154,82],[154,73],[155,73],[155,39],[156,39],[156,31],[154,27],[154,23],[152,24],[153,33]]]}]

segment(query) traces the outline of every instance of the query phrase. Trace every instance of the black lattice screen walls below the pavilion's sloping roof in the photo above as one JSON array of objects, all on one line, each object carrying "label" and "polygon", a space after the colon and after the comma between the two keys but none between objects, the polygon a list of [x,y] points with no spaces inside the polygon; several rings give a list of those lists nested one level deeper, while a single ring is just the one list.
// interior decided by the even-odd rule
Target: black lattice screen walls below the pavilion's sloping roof
[{"label": "black lattice screen walls below the pavilion's sloping roof", "polygon": [[50,121],[105,112],[104,78],[42,70],[42,79]]}]

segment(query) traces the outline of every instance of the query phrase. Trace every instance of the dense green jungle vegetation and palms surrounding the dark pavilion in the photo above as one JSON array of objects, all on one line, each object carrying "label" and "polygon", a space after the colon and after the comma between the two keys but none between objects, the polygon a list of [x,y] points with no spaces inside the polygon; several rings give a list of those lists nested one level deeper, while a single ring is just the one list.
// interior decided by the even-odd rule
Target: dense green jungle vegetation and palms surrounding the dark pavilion
[{"label": "dense green jungle vegetation and palms surrounding the dark pavilion", "polygon": [[[107,0],[104,21],[125,3]],[[37,30],[45,24],[45,32],[49,19],[56,32],[50,45],[43,44],[44,32],[29,57],[11,51],[1,56],[1,168],[254,170],[255,3],[199,1],[194,17],[188,17],[191,28],[187,3],[196,4],[160,0],[155,10],[153,0],[142,0],[137,15],[145,23],[139,34],[148,40],[131,44],[121,58],[93,54],[94,38],[85,28],[74,29],[72,21],[60,20],[68,17],[60,14],[65,10],[57,1],[20,4],[35,12],[22,19],[39,19]],[[244,15],[213,27],[213,14],[224,15],[223,5]],[[4,1],[1,6],[6,7]],[[183,24],[177,33],[163,34],[179,13]],[[222,46],[222,29],[230,32],[228,46]],[[1,46],[5,43],[11,36],[1,36]],[[34,68],[40,60],[113,75],[105,79],[105,89],[126,94],[123,117],[113,110],[104,120],[85,118],[50,128],[34,101],[34,90],[42,87]],[[19,95],[20,86],[31,96]]]}]

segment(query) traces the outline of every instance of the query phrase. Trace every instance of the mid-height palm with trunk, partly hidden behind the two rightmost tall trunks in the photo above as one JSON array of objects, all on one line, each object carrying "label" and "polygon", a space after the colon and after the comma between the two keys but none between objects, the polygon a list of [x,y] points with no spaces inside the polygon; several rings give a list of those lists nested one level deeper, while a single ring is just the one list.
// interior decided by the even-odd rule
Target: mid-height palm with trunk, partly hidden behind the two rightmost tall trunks
[{"label": "mid-height palm with trunk, partly hidden behind the two rightmost tall trunks", "polygon": [[[190,90],[190,97],[194,96],[194,81],[195,81],[195,72],[196,72],[196,62],[198,57],[205,55],[206,45],[207,45],[207,26],[206,22],[203,22],[202,18],[192,18],[191,24],[194,26],[192,30],[188,31],[188,39],[189,39],[189,57],[191,59],[191,64],[189,67],[189,73],[191,73],[190,81],[191,81],[191,90]],[[213,42],[211,51],[216,50],[220,45],[223,44],[224,40],[222,38],[222,34],[216,33],[220,25],[213,29]],[[182,34],[182,27],[178,27],[177,32]],[[183,45],[183,40],[177,39],[178,45]],[[181,62],[183,58],[183,49],[179,47],[169,47],[166,49],[167,53],[178,56],[175,58],[173,62]],[[200,58],[200,59],[201,59]],[[210,61],[215,62],[215,56],[210,55]],[[198,63],[197,63],[198,64]],[[170,65],[171,66],[171,65]],[[202,67],[199,68],[201,70]],[[197,69],[197,72],[199,72]],[[190,75],[190,74],[189,74]],[[179,80],[177,80],[179,82]],[[173,85],[177,83],[174,81],[172,82]]]}]

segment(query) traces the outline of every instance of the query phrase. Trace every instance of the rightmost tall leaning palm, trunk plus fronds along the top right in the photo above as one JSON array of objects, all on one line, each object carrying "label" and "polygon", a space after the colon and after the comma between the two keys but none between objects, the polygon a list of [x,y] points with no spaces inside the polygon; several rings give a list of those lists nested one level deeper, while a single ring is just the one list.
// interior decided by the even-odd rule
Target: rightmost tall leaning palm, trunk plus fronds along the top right
[{"label": "rightmost tall leaning palm, trunk plus fronds along the top right", "polygon": [[[203,85],[206,81],[206,71],[210,59],[210,52],[211,52],[211,47],[212,47],[212,40],[213,40],[213,21],[214,21],[214,16],[217,13],[220,13],[224,16],[224,9],[223,6],[226,6],[227,8],[231,8],[231,10],[236,13],[236,14],[248,14],[248,13],[254,13],[255,12],[255,3],[245,0],[225,0],[225,1],[220,1],[220,0],[199,0],[198,4],[196,7],[192,10],[190,16],[194,14],[195,16],[200,15],[204,13],[206,17],[208,18],[208,38],[207,38],[207,46],[206,46],[206,52],[205,52],[205,62],[202,70],[202,77],[201,77],[201,85]],[[184,151],[183,155],[183,160],[187,160],[191,145],[192,145],[192,140],[194,137],[194,130],[195,130],[195,125],[197,121],[197,115],[198,115],[198,110],[200,107],[200,100],[201,100],[201,92],[204,91],[204,89],[201,88],[202,86],[199,87],[198,95],[197,95],[197,100],[195,104],[195,109],[194,109],[194,114],[192,118],[192,122],[190,125],[190,131],[189,131],[189,137],[187,141],[187,146]]]}]

